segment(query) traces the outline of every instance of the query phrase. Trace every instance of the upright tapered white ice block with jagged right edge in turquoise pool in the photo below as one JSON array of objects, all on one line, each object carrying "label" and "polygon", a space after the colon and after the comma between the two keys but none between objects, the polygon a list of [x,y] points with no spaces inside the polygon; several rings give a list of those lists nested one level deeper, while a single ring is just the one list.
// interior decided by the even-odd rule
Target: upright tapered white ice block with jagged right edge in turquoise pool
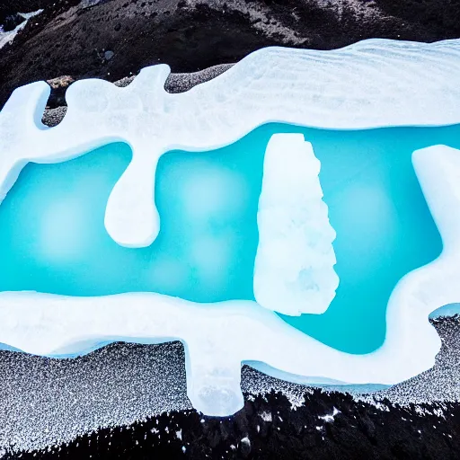
[{"label": "upright tapered white ice block with jagged right edge in turquoise pool", "polygon": [[319,172],[320,162],[302,134],[271,137],[257,213],[254,296],[275,312],[322,314],[339,285],[335,232]]}]

